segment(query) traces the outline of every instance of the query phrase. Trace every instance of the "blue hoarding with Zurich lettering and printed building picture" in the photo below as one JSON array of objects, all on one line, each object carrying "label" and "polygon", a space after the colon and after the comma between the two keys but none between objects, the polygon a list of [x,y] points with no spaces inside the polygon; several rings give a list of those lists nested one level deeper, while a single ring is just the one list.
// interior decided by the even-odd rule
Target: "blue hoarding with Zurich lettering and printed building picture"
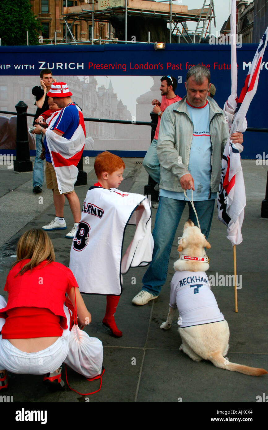
[{"label": "blue hoarding with Zurich lettering and printed building picture", "polygon": [[[256,49],[256,44],[237,48],[238,95]],[[176,77],[176,94],[183,97],[186,73],[194,64],[209,68],[216,86],[215,100],[223,107],[231,92],[230,45],[166,44],[163,50],[139,43],[1,46],[0,110],[15,111],[15,104],[23,100],[28,112],[34,113],[31,88],[39,85],[40,71],[49,68],[53,77],[68,83],[85,117],[150,121],[151,100],[160,99],[160,77]],[[258,90],[246,117],[248,127],[267,127],[267,77],[265,53]],[[89,155],[107,149],[125,157],[140,157],[150,144],[148,126],[87,123],[86,132],[90,139],[85,154]],[[255,159],[256,154],[262,154],[266,140],[266,133],[246,132],[242,158]]]}]

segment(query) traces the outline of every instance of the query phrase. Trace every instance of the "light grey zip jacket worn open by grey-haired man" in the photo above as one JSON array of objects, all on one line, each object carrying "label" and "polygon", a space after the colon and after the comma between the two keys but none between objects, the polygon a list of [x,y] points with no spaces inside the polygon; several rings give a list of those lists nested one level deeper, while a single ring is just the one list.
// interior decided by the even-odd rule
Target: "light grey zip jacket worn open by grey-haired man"
[{"label": "light grey zip jacket worn open by grey-haired man", "polygon": [[[207,98],[209,103],[209,131],[212,144],[210,192],[219,191],[222,154],[229,135],[225,115],[218,104]],[[157,155],[160,163],[160,188],[183,192],[180,178],[188,171],[194,124],[187,109],[186,96],[168,106],[160,121],[157,141]],[[200,160],[202,165],[202,160]]]}]

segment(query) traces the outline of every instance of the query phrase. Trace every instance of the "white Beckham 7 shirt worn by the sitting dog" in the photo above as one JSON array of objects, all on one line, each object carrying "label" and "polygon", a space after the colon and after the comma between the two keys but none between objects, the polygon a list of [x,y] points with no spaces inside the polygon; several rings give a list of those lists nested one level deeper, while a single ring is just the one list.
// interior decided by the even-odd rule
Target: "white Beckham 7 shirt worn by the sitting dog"
[{"label": "white Beckham 7 shirt worn by the sitting dog", "polygon": [[182,328],[224,321],[205,272],[176,271],[169,306],[178,307],[178,324]]}]

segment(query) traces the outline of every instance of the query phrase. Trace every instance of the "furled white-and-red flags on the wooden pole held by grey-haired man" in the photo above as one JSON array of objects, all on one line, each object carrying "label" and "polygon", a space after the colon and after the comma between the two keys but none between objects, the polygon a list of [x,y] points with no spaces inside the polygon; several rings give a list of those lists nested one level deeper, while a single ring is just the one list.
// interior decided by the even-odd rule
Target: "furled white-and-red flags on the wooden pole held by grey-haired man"
[{"label": "furled white-and-red flags on the wooden pole held by grey-haired man", "polygon": [[[232,2],[231,31],[235,32],[235,0]],[[233,33],[234,34],[234,33]],[[246,206],[246,193],[241,167],[240,152],[242,145],[230,141],[233,132],[246,130],[246,113],[250,102],[256,93],[262,57],[267,45],[268,28],[262,37],[259,47],[251,63],[240,97],[237,98],[237,64],[236,46],[231,45],[231,95],[225,103],[224,111],[231,125],[228,141],[222,157],[222,178],[217,199],[218,219],[228,226],[227,238],[232,245],[242,242],[241,227],[244,218],[244,207]]]}]

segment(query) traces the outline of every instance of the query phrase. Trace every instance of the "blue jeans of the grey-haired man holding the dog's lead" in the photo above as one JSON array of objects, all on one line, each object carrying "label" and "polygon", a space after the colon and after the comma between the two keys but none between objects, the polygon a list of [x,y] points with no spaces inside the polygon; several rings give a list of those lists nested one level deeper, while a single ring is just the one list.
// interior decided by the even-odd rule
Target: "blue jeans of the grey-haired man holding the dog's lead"
[{"label": "blue jeans of the grey-haired man holding the dog's lead", "polygon": [[[160,197],[159,199],[153,230],[153,258],[142,278],[142,289],[152,295],[158,295],[162,285],[166,282],[171,246],[186,203],[189,206],[189,219],[197,225],[196,216],[188,200],[175,200],[168,197]],[[206,238],[209,235],[213,218],[214,203],[215,200],[194,202],[200,228]]]}]

